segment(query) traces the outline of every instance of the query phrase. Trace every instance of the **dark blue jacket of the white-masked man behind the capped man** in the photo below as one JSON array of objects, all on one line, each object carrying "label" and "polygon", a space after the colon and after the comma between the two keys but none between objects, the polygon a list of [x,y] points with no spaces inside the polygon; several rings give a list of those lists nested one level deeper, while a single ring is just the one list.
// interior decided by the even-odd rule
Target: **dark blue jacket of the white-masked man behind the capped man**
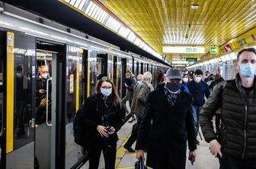
[{"label": "dark blue jacket of the white-masked man behind the capped man", "polygon": [[207,83],[200,81],[200,83],[195,82],[194,80],[190,81],[187,84],[187,89],[189,89],[191,95],[193,96],[193,105],[202,106],[205,102],[204,95],[206,98],[210,95],[210,89]]}]

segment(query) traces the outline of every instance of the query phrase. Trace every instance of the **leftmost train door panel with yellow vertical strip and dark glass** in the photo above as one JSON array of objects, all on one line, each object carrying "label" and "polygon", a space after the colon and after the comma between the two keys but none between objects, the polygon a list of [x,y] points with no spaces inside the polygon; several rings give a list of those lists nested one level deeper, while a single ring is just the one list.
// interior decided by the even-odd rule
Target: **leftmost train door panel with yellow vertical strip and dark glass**
[{"label": "leftmost train door panel with yellow vertical strip and dark glass", "polygon": [[34,168],[35,38],[14,33],[13,47],[7,57],[6,168]]}]

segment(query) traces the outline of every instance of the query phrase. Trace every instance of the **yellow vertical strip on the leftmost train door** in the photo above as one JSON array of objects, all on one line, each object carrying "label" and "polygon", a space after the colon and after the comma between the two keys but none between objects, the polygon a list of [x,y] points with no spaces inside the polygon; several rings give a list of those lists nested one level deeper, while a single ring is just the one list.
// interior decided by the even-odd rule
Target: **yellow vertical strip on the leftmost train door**
[{"label": "yellow vertical strip on the leftmost train door", "polygon": [[7,33],[6,153],[13,150],[14,139],[14,33]]}]

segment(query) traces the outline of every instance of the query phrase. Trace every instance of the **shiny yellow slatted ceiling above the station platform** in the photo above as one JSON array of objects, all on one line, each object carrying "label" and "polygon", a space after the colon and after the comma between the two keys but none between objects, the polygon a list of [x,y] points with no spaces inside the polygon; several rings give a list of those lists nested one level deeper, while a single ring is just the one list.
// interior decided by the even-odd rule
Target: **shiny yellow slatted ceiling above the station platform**
[{"label": "shiny yellow slatted ceiling above the station platform", "polygon": [[[256,26],[254,0],[100,0],[153,49],[223,45]],[[190,8],[199,5],[198,9]],[[181,54],[175,54],[175,56]],[[171,55],[168,55],[170,58]],[[181,55],[200,57],[200,55]]]}]

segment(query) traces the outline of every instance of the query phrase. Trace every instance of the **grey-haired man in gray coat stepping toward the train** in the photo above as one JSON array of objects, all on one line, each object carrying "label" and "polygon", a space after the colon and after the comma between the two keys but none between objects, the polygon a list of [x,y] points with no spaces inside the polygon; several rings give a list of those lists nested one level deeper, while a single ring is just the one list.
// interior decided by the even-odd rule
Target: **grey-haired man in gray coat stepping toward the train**
[{"label": "grey-haired man in gray coat stepping toward the train", "polygon": [[[139,76],[139,75],[138,75]],[[142,83],[138,83],[134,87],[133,92],[133,102],[132,102],[132,112],[136,114],[136,124],[133,126],[132,134],[127,140],[126,144],[123,146],[124,149],[127,149],[128,152],[135,152],[132,149],[133,143],[137,139],[139,124],[142,120],[146,97],[149,95],[149,92],[152,92],[154,89],[151,85],[149,85],[152,81],[152,74],[150,72],[146,72],[143,74]]]}]

